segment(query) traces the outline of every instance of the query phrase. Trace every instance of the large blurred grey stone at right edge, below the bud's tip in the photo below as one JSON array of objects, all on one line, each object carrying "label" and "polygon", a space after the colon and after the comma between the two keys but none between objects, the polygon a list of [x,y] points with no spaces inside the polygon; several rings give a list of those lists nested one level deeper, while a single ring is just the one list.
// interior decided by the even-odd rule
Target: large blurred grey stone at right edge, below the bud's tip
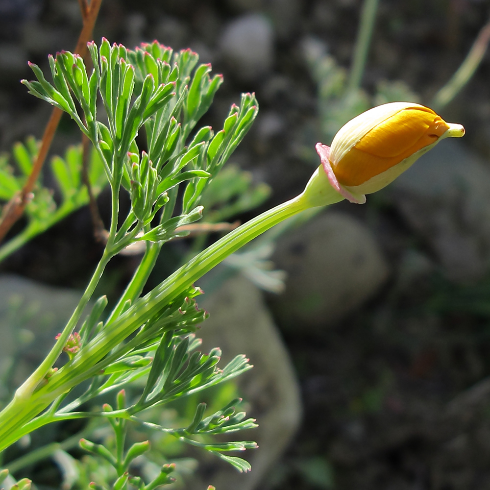
[{"label": "large blurred grey stone at right edge, below the bud's tip", "polygon": [[454,139],[423,155],[387,188],[448,278],[466,282],[490,270],[490,170]]}]

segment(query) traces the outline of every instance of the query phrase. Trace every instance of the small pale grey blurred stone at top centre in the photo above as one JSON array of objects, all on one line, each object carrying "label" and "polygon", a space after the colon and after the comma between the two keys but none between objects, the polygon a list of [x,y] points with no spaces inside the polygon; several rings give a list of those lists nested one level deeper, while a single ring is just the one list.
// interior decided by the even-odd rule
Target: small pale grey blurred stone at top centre
[{"label": "small pale grey blurred stone at top centre", "polygon": [[272,68],[272,26],[262,14],[241,16],[225,26],[219,50],[238,77],[257,80]]}]

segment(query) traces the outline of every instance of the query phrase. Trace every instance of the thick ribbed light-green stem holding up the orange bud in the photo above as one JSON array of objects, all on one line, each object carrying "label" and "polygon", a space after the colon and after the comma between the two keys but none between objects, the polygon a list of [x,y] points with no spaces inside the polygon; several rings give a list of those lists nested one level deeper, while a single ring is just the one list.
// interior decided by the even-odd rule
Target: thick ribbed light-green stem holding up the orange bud
[{"label": "thick ribbed light-green stem holding up the orange bud", "polygon": [[[158,318],[158,315],[161,315],[172,301],[185,294],[197,279],[213,269],[228,255],[275,224],[304,209],[331,204],[342,199],[343,197],[328,184],[327,176],[320,166],[301,195],[244,223],[198,253],[160,285],[136,300],[121,316],[111,323],[106,323],[102,331],[86,344],[72,361],[52,374],[45,386],[36,392],[31,391],[30,396],[15,396],[0,412],[0,451],[18,440],[17,435],[22,432],[23,425],[45,410],[59,395],[70,391],[74,386],[89,378],[93,374],[91,370],[95,365],[102,359],[105,361],[106,356],[114,347],[120,345],[149,319]],[[100,264],[101,273],[102,261]],[[93,283],[96,283],[94,279],[90,284]],[[101,368],[103,365],[98,366],[98,369]]]}]

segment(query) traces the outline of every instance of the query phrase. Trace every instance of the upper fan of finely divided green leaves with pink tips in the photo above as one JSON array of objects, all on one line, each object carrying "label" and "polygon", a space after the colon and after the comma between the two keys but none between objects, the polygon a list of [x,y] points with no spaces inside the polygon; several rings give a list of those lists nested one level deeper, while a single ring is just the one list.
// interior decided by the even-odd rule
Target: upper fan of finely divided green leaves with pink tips
[{"label": "upper fan of finely divided green leaves with pink tips", "polygon": [[[122,184],[130,192],[132,213],[118,230],[116,251],[142,229],[144,240],[168,241],[176,227],[201,217],[199,198],[253,122],[255,97],[244,94],[216,134],[205,126],[187,143],[209,109],[221,75],[211,78],[209,64],[195,69],[198,56],[190,49],[173,53],[157,42],[131,51],[103,39],[100,49],[92,42],[89,50],[95,67],[90,77],[81,57],[62,51],[49,57],[54,86],[33,64],[39,81],[23,83],[36,97],[70,114],[97,148],[111,186]],[[98,91],[108,124],[97,120]],[[147,151],[140,152],[135,138],[143,126]],[[169,222],[180,184],[185,186],[182,214]],[[163,221],[151,227],[164,206]]]}]

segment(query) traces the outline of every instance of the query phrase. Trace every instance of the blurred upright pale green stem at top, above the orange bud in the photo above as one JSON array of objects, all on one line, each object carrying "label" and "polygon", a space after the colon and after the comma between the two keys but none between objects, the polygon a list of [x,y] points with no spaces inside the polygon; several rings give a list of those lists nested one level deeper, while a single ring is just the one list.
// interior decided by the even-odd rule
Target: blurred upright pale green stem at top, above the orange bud
[{"label": "blurred upright pale green stem at top, above the orange bud", "polygon": [[364,0],[363,10],[361,12],[361,21],[357,31],[356,46],[354,48],[354,59],[350,69],[349,91],[357,90],[361,86],[361,80],[368,58],[368,50],[371,42],[374,21],[379,0]]}]

